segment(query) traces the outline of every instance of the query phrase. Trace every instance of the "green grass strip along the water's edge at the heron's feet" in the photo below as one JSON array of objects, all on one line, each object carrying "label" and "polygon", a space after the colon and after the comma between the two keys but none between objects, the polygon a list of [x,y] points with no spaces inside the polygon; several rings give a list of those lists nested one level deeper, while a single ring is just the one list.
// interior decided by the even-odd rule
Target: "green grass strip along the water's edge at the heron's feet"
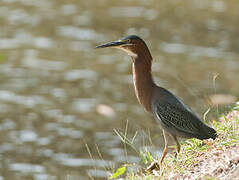
[{"label": "green grass strip along the water's edge at the heron's feet", "polygon": [[[239,111],[239,103],[235,105],[232,111]],[[208,111],[206,112],[208,113]],[[206,117],[206,115],[205,115]],[[204,119],[205,119],[204,117]],[[205,163],[205,158],[213,158],[215,151],[230,149],[231,147],[238,146],[239,142],[239,116],[233,115],[233,112],[226,115],[221,115],[219,120],[212,121],[212,126],[217,130],[218,137],[216,140],[197,140],[189,139],[181,141],[181,152],[175,158],[175,152],[170,152],[165,158],[164,165],[160,170],[147,172],[146,167],[151,162],[155,161],[150,152],[136,150],[141,158],[141,164],[137,165],[138,170],[132,171],[130,167],[135,165],[123,165],[119,169],[112,172],[111,179],[121,180],[151,180],[151,179],[170,179],[169,177],[181,177],[190,174],[190,170],[200,170],[200,164]],[[133,146],[133,141],[122,136],[121,139],[126,144]],[[134,138],[133,138],[134,139]],[[175,146],[173,146],[175,148]],[[214,154],[213,154],[214,153]],[[197,179],[197,178],[196,178]],[[214,177],[211,175],[204,175],[203,179],[212,180]]]}]

